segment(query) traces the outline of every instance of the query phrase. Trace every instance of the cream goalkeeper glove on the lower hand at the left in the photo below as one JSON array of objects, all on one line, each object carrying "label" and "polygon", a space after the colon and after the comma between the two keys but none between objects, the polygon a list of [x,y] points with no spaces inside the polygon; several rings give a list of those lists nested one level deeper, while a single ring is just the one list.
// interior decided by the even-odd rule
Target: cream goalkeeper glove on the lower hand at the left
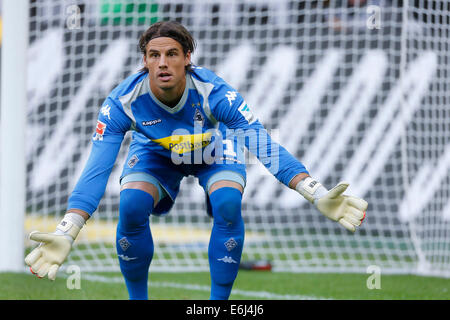
[{"label": "cream goalkeeper glove on the lower hand at the left", "polygon": [[50,280],[55,280],[56,273],[69,255],[72,243],[84,222],[82,216],[69,212],[61,220],[54,233],[31,232],[30,239],[38,241],[40,244],[25,258],[25,263],[30,266],[30,271],[39,278],[48,274]]}]

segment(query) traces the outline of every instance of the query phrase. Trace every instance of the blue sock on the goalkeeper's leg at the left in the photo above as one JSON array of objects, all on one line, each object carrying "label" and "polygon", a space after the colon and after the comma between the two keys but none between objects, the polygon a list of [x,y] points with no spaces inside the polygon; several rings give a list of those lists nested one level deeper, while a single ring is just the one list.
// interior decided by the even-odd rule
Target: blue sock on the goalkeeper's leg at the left
[{"label": "blue sock on the goalkeeper's leg at the left", "polygon": [[148,270],[154,251],[149,226],[153,204],[153,197],[145,191],[120,192],[116,249],[130,300],[148,299]]}]

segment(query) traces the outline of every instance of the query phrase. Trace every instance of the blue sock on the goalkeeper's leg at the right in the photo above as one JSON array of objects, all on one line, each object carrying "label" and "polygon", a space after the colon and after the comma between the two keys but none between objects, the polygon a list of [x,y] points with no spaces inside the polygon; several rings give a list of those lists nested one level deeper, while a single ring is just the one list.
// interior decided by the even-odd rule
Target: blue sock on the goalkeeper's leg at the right
[{"label": "blue sock on the goalkeeper's leg at the right", "polygon": [[214,218],[208,247],[211,275],[211,300],[227,300],[244,247],[244,221],[241,214],[242,194],[224,187],[209,196]]}]

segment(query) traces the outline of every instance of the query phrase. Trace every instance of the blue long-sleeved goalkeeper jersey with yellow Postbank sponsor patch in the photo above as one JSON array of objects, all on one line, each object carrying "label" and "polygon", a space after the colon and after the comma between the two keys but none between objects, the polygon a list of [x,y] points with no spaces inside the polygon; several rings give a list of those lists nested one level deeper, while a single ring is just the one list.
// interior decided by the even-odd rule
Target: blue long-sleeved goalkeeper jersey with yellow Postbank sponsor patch
[{"label": "blue long-sleeved goalkeeper jersey with yellow Postbank sponsor patch", "polygon": [[[126,78],[104,101],[92,150],[69,197],[68,209],[89,214],[97,209],[130,130],[135,143],[145,144],[168,161],[186,159],[186,155],[217,145],[217,141],[237,145],[240,141],[285,185],[298,173],[307,173],[302,163],[270,138],[243,97],[214,72],[200,67],[188,72],[186,88],[174,107],[160,102],[150,90],[148,72],[139,72]],[[230,145],[223,145],[222,160],[239,151],[239,146],[227,150]]]}]

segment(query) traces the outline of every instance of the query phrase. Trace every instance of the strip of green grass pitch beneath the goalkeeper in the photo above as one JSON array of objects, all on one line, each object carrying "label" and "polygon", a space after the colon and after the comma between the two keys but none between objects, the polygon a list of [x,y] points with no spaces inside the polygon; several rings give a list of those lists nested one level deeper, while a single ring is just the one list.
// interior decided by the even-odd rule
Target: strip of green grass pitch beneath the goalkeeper
[{"label": "strip of green grass pitch beneath the goalkeeper", "polygon": [[[450,279],[412,275],[381,275],[380,288],[368,289],[369,274],[305,274],[239,272],[230,300],[449,300]],[[150,273],[153,300],[207,300],[209,274]],[[69,289],[70,276],[56,281],[28,273],[0,273],[1,300],[126,300],[120,273],[81,274],[80,288]],[[69,286],[70,287],[70,286]]]}]

